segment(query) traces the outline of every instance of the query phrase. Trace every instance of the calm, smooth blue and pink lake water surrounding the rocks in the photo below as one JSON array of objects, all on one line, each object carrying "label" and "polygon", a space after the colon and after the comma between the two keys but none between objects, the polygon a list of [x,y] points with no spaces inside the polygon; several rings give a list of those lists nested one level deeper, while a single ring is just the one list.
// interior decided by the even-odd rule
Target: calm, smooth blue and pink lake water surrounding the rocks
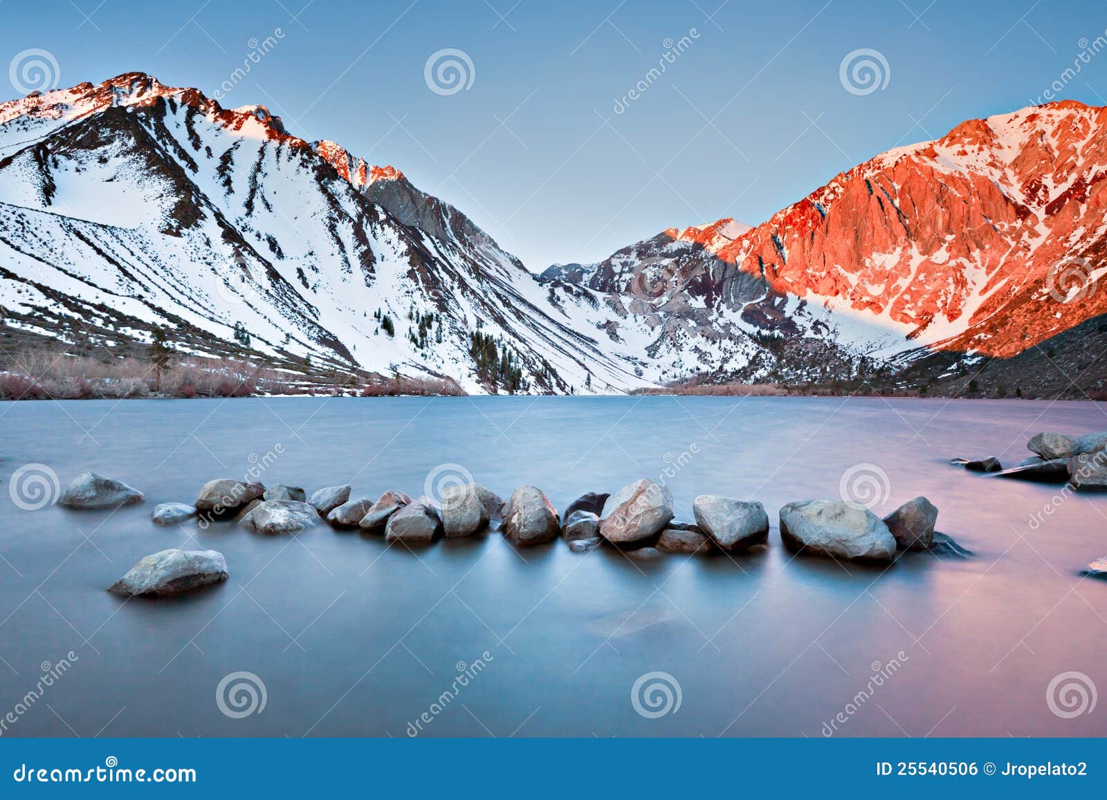
[{"label": "calm, smooth blue and pink lake water surrounding the rocks", "polygon": [[[1030,435],[1105,429],[1105,412],[722,397],[2,404],[4,486],[41,463],[62,486],[92,469],[146,493],[115,512],[3,497],[0,718],[15,709],[3,735],[403,737],[426,714],[424,736],[1103,736],[1107,699],[1065,718],[1047,688],[1075,672],[1107,690],[1107,582],[1079,575],[1107,551],[1107,496],[1074,496],[1031,524],[1058,487],[946,461],[1014,464]],[[156,503],[190,502],[255,463],[269,465],[266,484],[350,482],[371,497],[421,493],[455,465],[505,499],[534,484],[559,509],[668,469],[677,519],[721,493],[763,501],[774,529],[761,553],[646,561],[560,541],[516,552],[498,534],[412,552],[325,524],[263,538],[149,522]],[[793,558],[777,510],[837,497],[847,472],[877,476],[879,497],[887,475],[880,513],[925,495],[939,530],[975,557],[888,569]],[[173,600],[104,591],[174,547],[221,551],[230,579]],[[240,672],[266,704],[235,718],[217,687]],[[665,675],[640,680],[649,673]],[[645,692],[656,682],[671,703]]]}]

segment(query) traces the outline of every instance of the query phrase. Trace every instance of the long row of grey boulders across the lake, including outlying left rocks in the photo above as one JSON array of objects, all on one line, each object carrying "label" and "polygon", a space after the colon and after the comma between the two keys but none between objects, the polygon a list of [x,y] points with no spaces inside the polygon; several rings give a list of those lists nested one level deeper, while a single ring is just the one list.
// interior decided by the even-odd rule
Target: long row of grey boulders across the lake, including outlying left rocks
[{"label": "long row of grey boulders across the lake, including outlying left rocks", "polygon": [[[84,474],[65,492],[73,508],[105,508],[141,502],[143,496],[117,480]],[[755,500],[701,495],[692,506],[694,522],[673,519],[668,487],[642,479],[614,495],[589,492],[557,512],[534,486],[520,486],[505,502],[479,484],[452,486],[438,502],[412,499],[396,489],[380,497],[351,498],[351,487],[330,486],[311,497],[294,486],[218,478],[205,484],[192,505],[158,505],[151,519],[179,524],[194,517],[236,520],[270,536],[296,534],[327,520],[334,528],[383,533],[390,542],[430,544],[441,538],[499,531],[516,546],[561,538],[573,552],[601,543],[652,558],[670,553],[744,553],[768,541],[769,518]],[[801,500],[780,509],[780,539],[789,550],[857,561],[891,562],[900,551],[968,555],[949,537],[935,533],[938,509],[924,497],[909,500],[884,517],[846,500]],[[163,550],[147,555],[108,591],[124,595],[173,594],[226,580],[227,563],[214,550]]]}]

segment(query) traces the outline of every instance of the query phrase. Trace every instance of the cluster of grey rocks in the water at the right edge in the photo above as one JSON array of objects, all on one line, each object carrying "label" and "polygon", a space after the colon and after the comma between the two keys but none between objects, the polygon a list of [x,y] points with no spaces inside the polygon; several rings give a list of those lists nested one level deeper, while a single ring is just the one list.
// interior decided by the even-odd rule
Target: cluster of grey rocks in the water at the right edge
[{"label": "cluster of grey rocks in the water at the right edge", "polygon": [[1004,468],[995,456],[954,458],[951,464],[997,478],[1068,484],[1077,491],[1107,491],[1107,432],[1070,437],[1044,432],[1026,443],[1034,455]]}]

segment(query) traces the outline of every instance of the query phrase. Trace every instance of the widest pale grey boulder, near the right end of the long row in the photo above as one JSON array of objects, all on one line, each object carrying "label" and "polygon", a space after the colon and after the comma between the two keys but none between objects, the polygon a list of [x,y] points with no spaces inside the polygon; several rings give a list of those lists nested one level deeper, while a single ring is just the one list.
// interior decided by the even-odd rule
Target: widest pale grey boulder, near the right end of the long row
[{"label": "widest pale grey boulder, near the right end of the long row", "polygon": [[845,500],[799,500],[780,509],[780,540],[790,550],[861,561],[891,561],[896,538],[869,509]]}]

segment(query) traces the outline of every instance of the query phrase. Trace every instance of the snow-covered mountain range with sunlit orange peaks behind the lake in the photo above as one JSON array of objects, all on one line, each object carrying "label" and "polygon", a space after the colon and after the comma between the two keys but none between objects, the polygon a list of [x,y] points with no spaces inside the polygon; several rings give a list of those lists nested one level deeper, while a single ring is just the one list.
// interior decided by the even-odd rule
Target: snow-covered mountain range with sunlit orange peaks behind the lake
[{"label": "snow-covered mountain range with sunlit orange peaks behind the lake", "polygon": [[263,106],[142,73],[0,104],[4,324],[249,346],[469,392],[818,381],[1007,356],[1107,310],[1107,110],[975,120],[751,228],[534,276],[468,217]]}]

